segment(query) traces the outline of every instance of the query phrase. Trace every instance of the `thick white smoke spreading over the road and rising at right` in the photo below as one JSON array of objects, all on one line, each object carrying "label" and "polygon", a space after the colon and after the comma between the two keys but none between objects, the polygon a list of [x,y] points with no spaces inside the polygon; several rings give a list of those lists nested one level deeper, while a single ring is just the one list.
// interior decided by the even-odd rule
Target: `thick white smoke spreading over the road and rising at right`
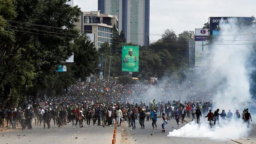
[{"label": "thick white smoke spreading over the road and rising at right", "polygon": [[[199,79],[206,81],[207,87],[214,88],[216,95],[211,98],[215,102],[213,112],[219,108],[228,112],[231,109],[239,109],[240,114],[245,103],[250,100],[249,74],[252,71],[248,58],[253,50],[254,35],[250,28],[241,29],[237,26],[237,20],[233,23],[221,23],[220,36],[216,36],[209,46],[209,66],[206,75],[198,75]],[[234,35],[235,34],[235,35]],[[199,72],[200,73],[200,72]],[[241,115],[242,117],[242,115]],[[202,118],[200,125],[186,124],[181,129],[169,132],[168,136],[174,137],[208,137],[213,139],[236,139],[247,136],[249,130],[246,125],[239,122],[223,124],[221,127],[209,127],[207,118]]]}]

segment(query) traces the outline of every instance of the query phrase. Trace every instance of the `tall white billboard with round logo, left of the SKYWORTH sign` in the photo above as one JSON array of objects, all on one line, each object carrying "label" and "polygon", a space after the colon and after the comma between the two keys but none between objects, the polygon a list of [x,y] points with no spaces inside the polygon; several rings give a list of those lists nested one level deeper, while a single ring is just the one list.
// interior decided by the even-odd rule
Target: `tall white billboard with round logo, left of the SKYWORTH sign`
[{"label": "tall white billboard with round logo, left of the SKYWORTH sign", "polygon": [[207,66],[208,29],[195,29],[195,66]]}]

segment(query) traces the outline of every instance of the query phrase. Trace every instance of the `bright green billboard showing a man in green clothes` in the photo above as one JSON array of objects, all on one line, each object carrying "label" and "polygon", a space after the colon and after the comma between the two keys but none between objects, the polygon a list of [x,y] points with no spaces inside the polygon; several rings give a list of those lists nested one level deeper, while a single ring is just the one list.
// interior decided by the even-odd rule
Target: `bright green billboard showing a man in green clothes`
[{"label": "bright green billboard showing a man in green clothes", "polygon": [[139,72],[138,46],[122,46],[122,71]]}]

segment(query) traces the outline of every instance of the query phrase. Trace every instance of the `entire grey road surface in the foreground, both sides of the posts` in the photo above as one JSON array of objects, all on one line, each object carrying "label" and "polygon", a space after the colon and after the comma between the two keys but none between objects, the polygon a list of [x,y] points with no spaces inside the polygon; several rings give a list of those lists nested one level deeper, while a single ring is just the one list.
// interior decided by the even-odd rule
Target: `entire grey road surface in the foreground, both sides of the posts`
[{"label": "entire grey road surface in the foreground, both sides of the posts", "polygon": [[[191,119],[186,118],[190,121]],[[186,138],[186,137],[167,137],[168,132],[174,129],[179,129],[174,119],[168,121],[166,132],[161,132],[161,124],[163,120],[157,120],[159,129],[152,129],[152,122],[145,122],[145,129],[140,129],[139,122],[136,121],[136,129],[131,130],[128,123],[123,122],[121,127],[117,127],[117,142],[116,144],[153,144],[153,143],[173,143],[173,144],[249,144],[256,143],[256,131],[252,129],[249,136],[231,140],[211,140],[209,138]],[[184,126],[186,122],[181,123]],[[256,127],[256,124],[251,124]],[[53,126],[53,123],[51,124]],[[0,128],[1,130],[1,128]],[[75,127],[68,124],[64,127],[51,127],[43,129],[43,126],[33,125],[33,130],[21,130],[17,128],[7,129],[0,132],[0,144],[80,144],[80,143],[97,143],[111,144],[113,139],[114,127],[93,126],[90,127]],[[249,140],[248,140],[249,139]]]}]

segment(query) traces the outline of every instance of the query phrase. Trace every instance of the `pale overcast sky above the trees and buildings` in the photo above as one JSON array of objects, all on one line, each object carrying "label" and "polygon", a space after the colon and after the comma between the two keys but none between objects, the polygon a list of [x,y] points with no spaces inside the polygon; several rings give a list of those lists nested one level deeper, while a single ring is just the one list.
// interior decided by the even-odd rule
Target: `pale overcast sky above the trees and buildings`
[{"label": "pale overcast sky above the trees and buildings", "polygon": [[[82,11],[97,11],[97,0],[74,0]],[[202,28],[209,17],[256,16],[256,0],[150,0],[150,41],[161,38],[165,29],[176,34]],[[154,35],[158,34],[158,35]]]}]

